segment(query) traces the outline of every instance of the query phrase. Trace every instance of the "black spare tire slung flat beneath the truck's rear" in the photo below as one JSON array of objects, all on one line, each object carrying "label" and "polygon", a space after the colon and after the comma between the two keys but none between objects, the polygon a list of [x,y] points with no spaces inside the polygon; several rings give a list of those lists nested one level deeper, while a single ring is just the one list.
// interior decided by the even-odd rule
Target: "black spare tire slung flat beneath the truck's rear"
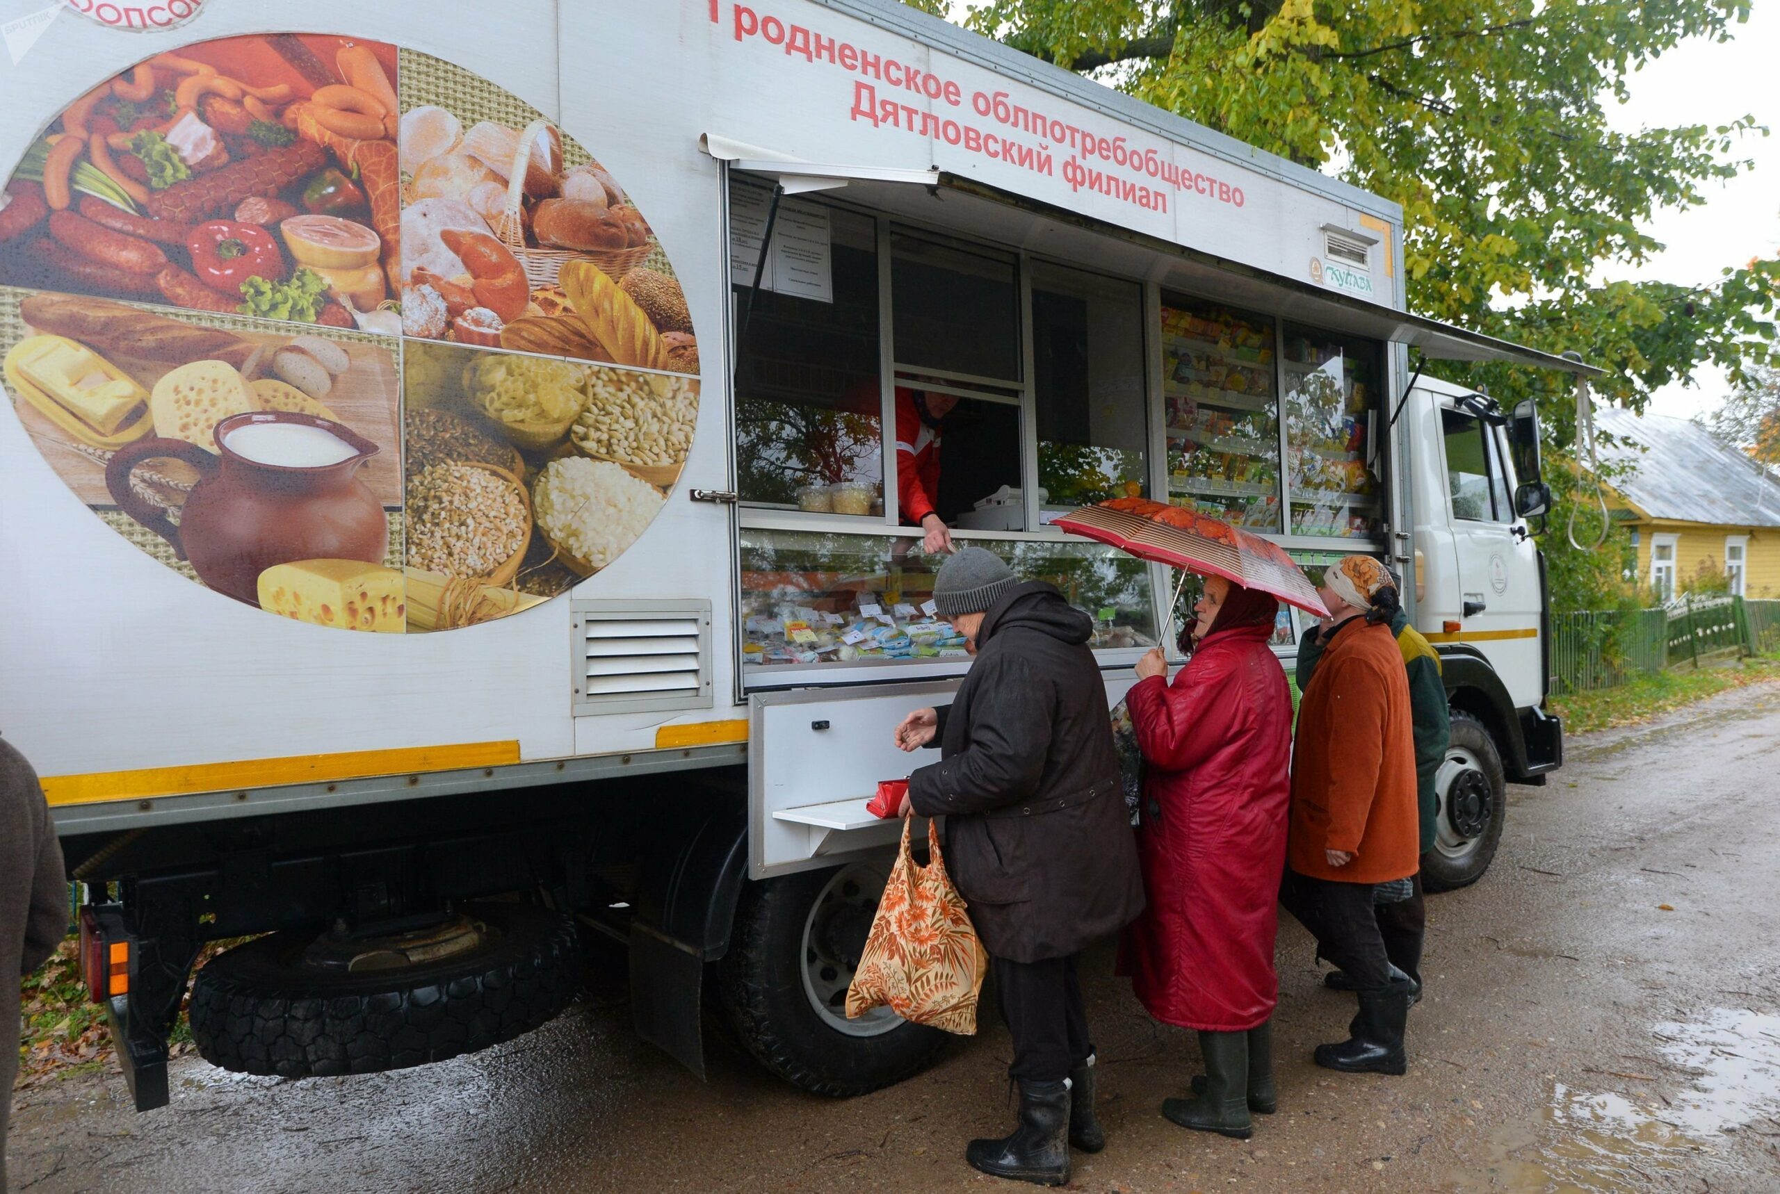
[{"label": "black spare tire slung flat beneath the truck's rear", "polygon": [[303,964],[315,934],[274,932],[192,980],[198,1052],[237,1073],[402,1069],[500,1045],[552,1020],[580,977],[575,922],[530,904],[470,904],[473,948],[390,970]]}]

